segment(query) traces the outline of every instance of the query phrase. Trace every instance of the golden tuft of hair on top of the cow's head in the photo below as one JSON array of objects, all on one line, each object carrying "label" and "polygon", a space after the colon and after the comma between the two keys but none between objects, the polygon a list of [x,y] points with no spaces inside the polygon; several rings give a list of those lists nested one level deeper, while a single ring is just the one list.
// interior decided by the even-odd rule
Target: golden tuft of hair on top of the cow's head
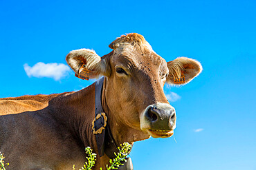
[{"label": "golden tuft of hair on top of the cow's head", "polygon": [[144,36],[138,33],[129,33],[126,35],[122,35],[109,44],[109,47],[113,50],[116,50],[118,47],[122,47],[123,45],[134,45],[136,47],[140,47],[141,50],[152,50],[151,45],[145,40]]}]

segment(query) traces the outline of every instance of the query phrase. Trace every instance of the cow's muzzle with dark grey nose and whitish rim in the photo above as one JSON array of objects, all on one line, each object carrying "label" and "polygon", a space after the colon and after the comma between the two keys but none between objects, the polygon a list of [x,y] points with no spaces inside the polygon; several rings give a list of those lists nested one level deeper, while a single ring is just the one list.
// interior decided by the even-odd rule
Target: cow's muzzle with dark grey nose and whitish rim
[{"label": "cow's muzzle with dark grey nose and whitish rim", "polygon": [[175,109],[167,103],[149,105],[140,115],[140,129],[154,138],[168,138],[176,127]]}]

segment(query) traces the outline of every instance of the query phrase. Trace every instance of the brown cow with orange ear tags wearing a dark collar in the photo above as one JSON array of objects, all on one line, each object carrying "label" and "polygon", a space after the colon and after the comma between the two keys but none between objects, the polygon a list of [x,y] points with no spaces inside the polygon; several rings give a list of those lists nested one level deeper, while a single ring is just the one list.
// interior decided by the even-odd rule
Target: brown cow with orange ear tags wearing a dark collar
[{"label": "brown cow with orange ear tags wearing a dark collar", "polygon": [[[136,33],[120,36],[109,47],[112,51],[102,57],[89,49],[66,56],[79,78],[102,76],[85,89],[0,100],[0,151],[9,169],[82,167],[88,146],[97,153],[93,168],[104,169],[113,144],[174,134],[176,112],[163,86],[189,83],[201,73],[201,64],[186,57],[166,62]],[[109,136],[104,142],[98,137],[103,132]]]}]

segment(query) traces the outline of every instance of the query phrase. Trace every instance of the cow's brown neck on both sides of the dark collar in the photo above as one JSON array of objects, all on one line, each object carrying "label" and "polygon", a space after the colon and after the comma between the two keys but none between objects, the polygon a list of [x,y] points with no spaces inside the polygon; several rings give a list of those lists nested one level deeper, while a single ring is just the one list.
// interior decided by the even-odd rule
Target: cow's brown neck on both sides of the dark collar
[{"label": "cow's brown neck on both sides of the dark collar", "polygon": [[[137,129],[133,129],[122,121],[116,118],[116,114],[109,110],[107,100],[105,98],[105,85],[107,78],[104,78],[102,91],[102,108],[108,117],[108,126],[111,129],[112,136],[116,145],[124,142],[133,142],[149,138],[147,134],[142,133]],[[91,123],[95,118],[95,111],[92,98],[95,98],[95,83],[82,89],[79,92],[64,94],[54,98],[49,103],[49,108],[52,109],[55,119],[61,122],[65,127],[73,131],[75,136],[78,136],[84,147],[91,146],[93,150],[98,151],[96,147],[95,137],[92,133]]]}]

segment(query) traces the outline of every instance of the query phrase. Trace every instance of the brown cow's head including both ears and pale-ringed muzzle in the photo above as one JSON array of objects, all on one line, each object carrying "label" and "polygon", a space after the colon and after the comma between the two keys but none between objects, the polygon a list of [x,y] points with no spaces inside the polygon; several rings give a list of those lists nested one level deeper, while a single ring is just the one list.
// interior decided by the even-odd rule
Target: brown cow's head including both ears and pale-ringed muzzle
[{"label": "brown cow's head including both ears and pale-ringed muzzle", "polygon": [[163,86],[190,82],[201,72],[201,64],[185,57],[166,62],[136,33],[121,36],[109,47],[113,51],[102,58],[93,50],[81,49],[71,51],[66,61],[76,74],[86,63],[90,78],[107,77],[107,106],[122,123],[154,138],[172,136],[176,113]]}]

